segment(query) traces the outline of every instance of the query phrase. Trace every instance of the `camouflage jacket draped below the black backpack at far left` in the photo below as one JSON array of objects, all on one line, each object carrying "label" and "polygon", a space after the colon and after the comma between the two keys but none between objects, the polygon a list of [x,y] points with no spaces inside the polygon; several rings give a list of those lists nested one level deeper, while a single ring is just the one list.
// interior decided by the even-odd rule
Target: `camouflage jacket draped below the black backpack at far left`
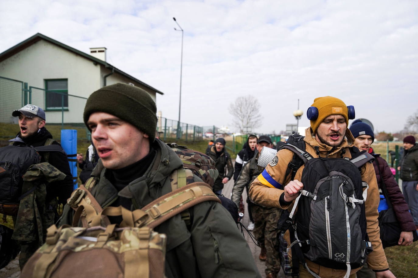
[{"label": "camouflage jacket draped below the black backpack at far left", "polygon": [[54,212],[47,211],[46,183],[62,181],[66,175],[49,164],[42,162],[28,168],[23,175],[22,193],[18,215],[14,219],[12,238],[20,241],[38,241],[43,244],[46,229],[54,224]]}]

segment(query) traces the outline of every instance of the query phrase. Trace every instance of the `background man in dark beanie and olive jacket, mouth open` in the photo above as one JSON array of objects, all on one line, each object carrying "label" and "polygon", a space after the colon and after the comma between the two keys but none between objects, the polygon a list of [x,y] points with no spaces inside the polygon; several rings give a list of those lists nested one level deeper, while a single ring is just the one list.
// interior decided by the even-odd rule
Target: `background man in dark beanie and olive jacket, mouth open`
[{"label": "background man in dark beanie and olive jacket, mouth open", "polygon": [[[231,155],[225,150],[225,139],[218,138],[215,140],[215,145],[206,150],[206,155],[209,155],[215,161],[216,168],[218,169],[219,175],[215,180],[215,185],[213,190],[217,194],[222,193],[224,184],[232,178],[234,174],[234,166],[232,166]],[[225,173],[225,167],[228,169],[228,172]]]}]

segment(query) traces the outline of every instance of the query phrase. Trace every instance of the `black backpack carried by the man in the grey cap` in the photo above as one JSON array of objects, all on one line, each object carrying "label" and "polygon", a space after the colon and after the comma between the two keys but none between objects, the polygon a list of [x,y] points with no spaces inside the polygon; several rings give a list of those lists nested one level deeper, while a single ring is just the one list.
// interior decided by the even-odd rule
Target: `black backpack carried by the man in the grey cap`
[{"label": "black backpack carried by the man in the grey cap", "polygon": [[59,145],[36,148],[26,145],[8,145],[0,148],[0,213],[16,215],[20,200],[35,190],[36,185],[27,192],[22,192],[22,177],[31,165],[40,163],[39,152],[41,151],[63,152]]}]

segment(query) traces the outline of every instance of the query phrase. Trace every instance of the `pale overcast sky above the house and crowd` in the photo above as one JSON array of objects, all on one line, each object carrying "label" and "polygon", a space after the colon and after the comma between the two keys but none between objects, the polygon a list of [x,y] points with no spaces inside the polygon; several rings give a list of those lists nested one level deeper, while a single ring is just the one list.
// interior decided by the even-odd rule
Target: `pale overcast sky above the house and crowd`
[{"label": "pale overcast sky above the house and crowd", "polygon": [[410,0],[1,0],[0,53],[42,33],[157,88],[163,117],[228,126],[228,106],[254,95],[258,132],[296,123],[331,95],[354,105],[375,131],[401,130],[418,109],[418,1]]}]

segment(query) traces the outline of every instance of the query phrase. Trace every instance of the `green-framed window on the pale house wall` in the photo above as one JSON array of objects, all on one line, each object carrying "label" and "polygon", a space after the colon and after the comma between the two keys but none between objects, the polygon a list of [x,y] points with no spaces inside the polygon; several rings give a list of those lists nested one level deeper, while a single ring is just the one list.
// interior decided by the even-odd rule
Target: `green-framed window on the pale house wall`
[{"label": "green-framed window on the pale house wall", "polygon": [[45,79],[47,110],[68,110],[68,79]]}]

